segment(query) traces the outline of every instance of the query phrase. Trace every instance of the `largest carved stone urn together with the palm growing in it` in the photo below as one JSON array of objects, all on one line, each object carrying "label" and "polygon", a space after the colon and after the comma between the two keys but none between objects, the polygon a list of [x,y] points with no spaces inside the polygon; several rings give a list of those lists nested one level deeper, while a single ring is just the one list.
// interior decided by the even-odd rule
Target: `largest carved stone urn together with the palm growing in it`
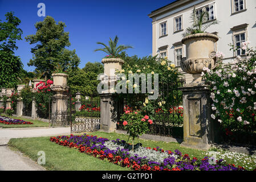
[{"label": "largest carved stone urn together with the palm growing in it", "polygon": [[204,67],[214,69],[222,60],[216,57],[216,51],[214,51],[214,43],[218,41],[218,36],[205,32],[208,27],[219,22],[211,20],[207,23],[208,12],[202,10],[197,14],[195,7],[190,18],[193,25],[182,34],[181,42],[186,45],[186,57],[182,58],[181,68],[184,72],[193,75],[192,83],[198,83],[201,82],[201,72],[204,71]]}]

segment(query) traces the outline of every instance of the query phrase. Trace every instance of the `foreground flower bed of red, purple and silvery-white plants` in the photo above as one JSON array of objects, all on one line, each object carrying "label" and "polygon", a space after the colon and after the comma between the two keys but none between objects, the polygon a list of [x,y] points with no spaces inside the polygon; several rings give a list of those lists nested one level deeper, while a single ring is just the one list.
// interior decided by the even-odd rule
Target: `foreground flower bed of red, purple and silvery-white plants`
[{"label": "foreground flower bed of red, purple and silvery-white plants", "polygon": [[204,159],[190,159],[188,154],[180,151],[162,150],[159,147],[142,147],[135,145],[134,152],[124,140],[109,140],[97,136],[81,135],[51,137],[51,142],[75,148],[87,155],[117,164],[122,167],[140,171],[245,171],[245,168],[226,164],[223,159],[212,161],[209,156]]}]

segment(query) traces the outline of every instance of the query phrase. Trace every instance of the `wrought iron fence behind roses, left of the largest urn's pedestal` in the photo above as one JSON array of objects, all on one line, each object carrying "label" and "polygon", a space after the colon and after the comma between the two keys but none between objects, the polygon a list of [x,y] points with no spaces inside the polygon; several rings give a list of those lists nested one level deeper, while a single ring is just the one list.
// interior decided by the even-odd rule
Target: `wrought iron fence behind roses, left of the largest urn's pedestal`
[{"label": "wrought iron fence behind roses, left of the largest urn's pedestal", "polygon": [[[151,100],[151,110],[144,111],[143,103],[145,94],[133,94],[132,97],[124,96],[124,111],[139,109],[153,119],[147,134],[164,137],[183,137],[183,106],[182,92],[178,88],[185,83],[185,79],[161,85],[157,100]],[[139,103],[135,105],[136,103]],[[117,130],[124,130],[123,125],[117,125]]]}]

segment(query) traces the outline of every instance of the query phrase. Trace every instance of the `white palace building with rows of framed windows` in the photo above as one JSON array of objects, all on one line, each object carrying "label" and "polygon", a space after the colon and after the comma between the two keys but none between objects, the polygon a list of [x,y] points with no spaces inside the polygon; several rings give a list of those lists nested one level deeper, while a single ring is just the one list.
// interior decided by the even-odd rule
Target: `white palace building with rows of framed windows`
[{"label": "white palace building with rows of framed windows", "polygon": [[[176,0],[169,5],[154,10],[148,16],[152,18],[152,55],[168,57],[180,68],[181,58],[186,57],[185,45],[181,43],[182,34],[192,25],[190,19],[194,6],[196,14],[202,10],[209,13],[208,20],[218,20],[206,29],[206,32],[219,36],[216,51],[224,53],[224,63],[233,63],[237,55],[245,51],[230,51],[229,44],[239,46],[249,40],[250,46],[256,46],[256,0]],[[192,76],[185,74],[186,82]]]}]

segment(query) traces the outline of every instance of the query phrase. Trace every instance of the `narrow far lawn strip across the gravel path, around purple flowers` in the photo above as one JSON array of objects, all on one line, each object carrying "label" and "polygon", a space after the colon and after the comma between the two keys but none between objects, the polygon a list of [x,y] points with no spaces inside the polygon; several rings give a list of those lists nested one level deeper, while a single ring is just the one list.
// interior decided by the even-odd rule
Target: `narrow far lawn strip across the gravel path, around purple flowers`
[{"label": "narrow far lawn strip across the gravel path, around purple flowers", "polygon": [[[2,114],[3,115],[3,114]],[[3,115],[6,116],[6,115]],[[6,116],[9,118],[14,118],[14,119],[21,119],[23,121],[28,121],[28,122],[32,122],[32,125],[5,125],[3,123],[0,123],[0,127],[2,127],[3,129],[9,129],[9,128],[21,128],[21,127],[48,127],[49,123],[48,122],[43,122],[43,121],[39,121],[36,119],[27,119],[27,118],[22,118],[22,117],[15,117],[15,116]]]}]

